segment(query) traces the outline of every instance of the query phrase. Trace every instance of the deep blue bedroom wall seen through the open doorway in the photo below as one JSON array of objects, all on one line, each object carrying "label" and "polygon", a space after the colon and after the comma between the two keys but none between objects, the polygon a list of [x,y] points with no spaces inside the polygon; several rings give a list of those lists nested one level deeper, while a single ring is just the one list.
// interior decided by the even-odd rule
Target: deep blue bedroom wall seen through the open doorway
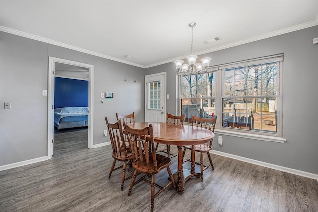
[{"label": "deep blue bedroom wall seen through the open doorway", "polygon": [[88,107],[88,81],[54,78],[54,108]]}]

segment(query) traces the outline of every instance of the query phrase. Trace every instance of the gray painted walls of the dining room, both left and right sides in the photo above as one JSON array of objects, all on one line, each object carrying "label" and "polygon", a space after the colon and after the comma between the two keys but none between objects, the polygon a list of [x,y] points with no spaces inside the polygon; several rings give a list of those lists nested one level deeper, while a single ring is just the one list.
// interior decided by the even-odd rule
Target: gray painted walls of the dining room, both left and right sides
[{"label": "gray painted walls of the dining room, both left and right sides", "polygon": [[[284,53],[283,128],[287,141],[275,143],[223,135],[223,145],[214,142],[214,150],[318,174],[318,45],[312,44],[315,37],[318,26],[204,55],[212,57],[211,65],[218,65]],[[0,32],[0,166],[47,155],[48,101],[41,90],[48,89],[49,56],[94,65],[94,144],[109,141],[103,137],[105,116],[115,121],[116,112],[135,111],[136,120],[144,120],[145,75],[167,72],[167,112],[175,112],[173,62],[143,70]],[[113,92],[114,99],[101,104],[101,92]],[[4,110],[3,102],[11,102],[12,109]]]}]

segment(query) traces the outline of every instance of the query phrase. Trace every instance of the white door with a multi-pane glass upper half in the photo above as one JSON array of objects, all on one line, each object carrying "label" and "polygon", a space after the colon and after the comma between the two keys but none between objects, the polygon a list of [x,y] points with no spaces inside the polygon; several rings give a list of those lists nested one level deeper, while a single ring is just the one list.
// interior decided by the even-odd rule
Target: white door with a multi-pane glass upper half
[{"label": "white door with a multi-pane glass upper half", "polygon": [[165,122],[166,72],[145,76],[145,122]]}]

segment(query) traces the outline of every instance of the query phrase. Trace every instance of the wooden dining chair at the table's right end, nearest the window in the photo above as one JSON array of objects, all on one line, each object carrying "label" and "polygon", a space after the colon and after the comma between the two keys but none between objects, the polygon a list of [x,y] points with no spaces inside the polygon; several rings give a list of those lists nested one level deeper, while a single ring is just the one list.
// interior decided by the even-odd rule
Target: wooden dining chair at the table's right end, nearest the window
[{"label": "wooden dining chair at the table's right end, nearest the window", "polygon": [[[191,120],[191,125],[192,126],[197,126],[197,127],[201,127],[201,128],[205,128],[207,130],[211,130],[212,132],[214,132],[214,128],[215,128],[215,124],[217,121],[217,116],[213,116],[211,118],[200,118],[197,116],[192,115],[192,120]],[[185,155],[185,151],[187,149],[192,149],[194,148],[195,152],[200,152],[200,163],[195,162],[195,164],[200,165],[201,168],[201,181],[203,181],[203,171],[206,170],[207,168],[209,168],[211,166],[212,170],[214,170],[214,166],[212,163],[212,158],[211,155],[209,153],[209,151],[212,149],[212,141],[209,141],[207,143],[204,144],[200,144],[200,145],[194,145],[194,146],[183,146],[184,150],[183,150],[183,156]],[[203,153],[207,153],[208,158],[210,163],[204,165],[203,164]],[[184,162],[191,162],[190,159],[186,159],[183,161]]]}]

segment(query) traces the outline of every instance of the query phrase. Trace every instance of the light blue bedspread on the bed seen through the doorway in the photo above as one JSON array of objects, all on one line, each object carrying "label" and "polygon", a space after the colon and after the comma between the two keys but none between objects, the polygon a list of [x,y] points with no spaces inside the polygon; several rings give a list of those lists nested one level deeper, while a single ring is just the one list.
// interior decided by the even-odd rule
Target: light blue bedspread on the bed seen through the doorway
[{"label": "light blue bedspread on the bed seen through the doorway", "polygon": [[63,107],[54,109],[54,122],[58,125],[63,117],[86,116],[88,107]]}]

